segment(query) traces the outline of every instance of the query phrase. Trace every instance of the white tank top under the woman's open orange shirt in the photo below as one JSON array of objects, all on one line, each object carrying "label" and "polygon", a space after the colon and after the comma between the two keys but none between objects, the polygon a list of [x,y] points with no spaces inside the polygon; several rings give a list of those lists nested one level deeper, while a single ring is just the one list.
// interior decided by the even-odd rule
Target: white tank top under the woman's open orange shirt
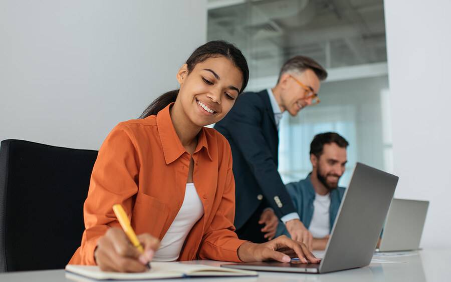
[{"label": "white tank top under the woman's open orange shirt", "polygon": [[192,226],[203,215],[203,206],[194,183],[186,183],[185,198],[171,226],[153,256],[154,261],[175,261]]}]

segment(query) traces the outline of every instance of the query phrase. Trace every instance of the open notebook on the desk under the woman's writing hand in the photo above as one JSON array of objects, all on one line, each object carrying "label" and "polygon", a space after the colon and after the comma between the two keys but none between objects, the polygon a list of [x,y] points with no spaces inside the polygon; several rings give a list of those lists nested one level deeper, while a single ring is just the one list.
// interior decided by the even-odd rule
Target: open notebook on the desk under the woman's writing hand
[{"label": "open notebook on the desk under the woman's writing hand", "polygon": [[206,276],[257,276],[256,271],[185,264],[177,262],[152,262],[152,269],[140,273],[106,272],[98,266],[66,265],[66,271],[97,280],[146,280]]}]

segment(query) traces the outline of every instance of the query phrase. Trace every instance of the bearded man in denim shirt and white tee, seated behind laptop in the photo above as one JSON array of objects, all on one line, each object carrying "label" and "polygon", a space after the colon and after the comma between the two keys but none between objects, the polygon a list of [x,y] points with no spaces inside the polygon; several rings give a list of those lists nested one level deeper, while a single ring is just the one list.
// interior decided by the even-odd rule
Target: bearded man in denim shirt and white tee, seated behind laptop
[{"label": "bearded man in denim shirt and white tee, seated behind laptop", "polygon": [[[286,185],[301,221],[313,235],[313,249],[325,249],[345,188],[338,181],[345,171],[349,143],[337,133],[321,133],[310,144],[313,170],[307,178]],[[290,236],[279,223],[276,236]]]}]

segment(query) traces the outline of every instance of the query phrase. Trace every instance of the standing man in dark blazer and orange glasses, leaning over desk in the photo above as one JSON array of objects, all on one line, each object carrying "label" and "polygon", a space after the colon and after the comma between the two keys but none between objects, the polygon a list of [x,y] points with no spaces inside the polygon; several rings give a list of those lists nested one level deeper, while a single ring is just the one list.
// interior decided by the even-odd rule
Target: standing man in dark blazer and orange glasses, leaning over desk
[{"label": "standing man in dark blazer and orange glasses, leaning over desk", "polygon": [[314,60],[294,57],[282,67],[274,88],[242,94],[214,126],[232,148],[235,226],[241,239],[271,239],[278,217],[293,239],[312,247],[312,234],[301,222],[277,171],[278,129],[283,112],[296,116],[303,108],[319,103],[320,81],[326,77],[327,72]]}]

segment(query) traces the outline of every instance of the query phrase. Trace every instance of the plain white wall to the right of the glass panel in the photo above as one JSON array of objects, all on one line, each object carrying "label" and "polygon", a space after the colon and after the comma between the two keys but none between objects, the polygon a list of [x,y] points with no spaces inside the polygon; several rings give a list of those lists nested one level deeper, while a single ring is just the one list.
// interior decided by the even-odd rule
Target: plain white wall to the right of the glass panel
[{"label": "plain white wall to the right of the glass panel", "polygon": [[449,0],[385,0],[395,196],[430,201],[423,247],[451,246],[449,11]]}]

